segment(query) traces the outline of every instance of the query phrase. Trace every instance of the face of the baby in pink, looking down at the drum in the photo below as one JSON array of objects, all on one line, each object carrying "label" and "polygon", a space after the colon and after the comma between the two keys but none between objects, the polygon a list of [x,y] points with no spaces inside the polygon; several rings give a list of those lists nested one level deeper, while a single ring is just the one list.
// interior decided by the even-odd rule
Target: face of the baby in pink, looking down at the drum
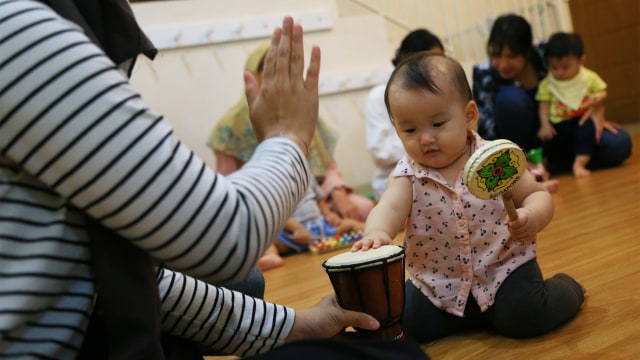
[{"label": "face of the baby in pink, looking down at the drum", "polygon": [[452,84],[434,94],[426,89],[389,88],[393,123],[407,154],[423,166],[453,165],[467,144],[467,106]]}]

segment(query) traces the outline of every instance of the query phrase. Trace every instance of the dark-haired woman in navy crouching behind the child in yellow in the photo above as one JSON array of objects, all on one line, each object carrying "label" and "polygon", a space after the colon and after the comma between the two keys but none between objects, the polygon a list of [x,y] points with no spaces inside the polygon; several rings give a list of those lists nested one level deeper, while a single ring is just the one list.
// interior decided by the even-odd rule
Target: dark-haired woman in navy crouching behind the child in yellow
[{"label": "dark-haired woman in navy crouching behind the child in yellow", "polygon": [[[487,52],[489,61],[473,69],[473,94],[480,110],[478,132],[486,139],[509,139],[525,151],[540,147],[535,94],[547,69],[539,49],[533,46],[531,25],[514,14],[498,17],[489,35]],[[610,122],[596,127],[599,142],[588,167],[620,165],[631,155],[631,137]],[[565,151],[574,151],[573,145],[567,143]],[[571,164],[565,165],[549,163],[548,169],[571,171]]]}]

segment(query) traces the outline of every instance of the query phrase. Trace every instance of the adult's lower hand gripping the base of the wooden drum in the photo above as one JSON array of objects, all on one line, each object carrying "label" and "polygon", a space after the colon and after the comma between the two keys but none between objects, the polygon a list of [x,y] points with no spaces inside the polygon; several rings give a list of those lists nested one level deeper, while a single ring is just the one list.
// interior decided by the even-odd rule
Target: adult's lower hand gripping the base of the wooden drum
[{"label": "adult's lower hand gripping the base of the wooden drum", "polygon": [[380,323],[371,315],[341,308],[334,295],[327,295],[312,308],[296,311],[296,320],[286,342],[330,338],[349,326],[377,330]]}]

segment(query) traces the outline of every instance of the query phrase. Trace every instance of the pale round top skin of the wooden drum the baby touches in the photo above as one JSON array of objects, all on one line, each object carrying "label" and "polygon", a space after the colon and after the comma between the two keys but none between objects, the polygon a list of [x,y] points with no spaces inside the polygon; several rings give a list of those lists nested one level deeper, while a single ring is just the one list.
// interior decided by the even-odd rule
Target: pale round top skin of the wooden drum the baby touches
[{"label": "pale round top skin of the wooden drum the baby touches", "polygon": [[347,271],[377,266],[403,257],[404,248],[402,246],[383,245],[377,249],[347,251],[335,255],[325,261],[322,266],[327,271]]}]

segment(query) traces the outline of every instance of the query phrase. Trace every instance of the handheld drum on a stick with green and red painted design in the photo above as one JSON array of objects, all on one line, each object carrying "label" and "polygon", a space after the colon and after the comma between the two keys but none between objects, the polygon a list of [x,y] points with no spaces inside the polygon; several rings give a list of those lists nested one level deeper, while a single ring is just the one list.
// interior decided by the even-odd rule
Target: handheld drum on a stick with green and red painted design
[{"label": "handheld drum on a stick with green and red painted design", "polygon": [[490,141],[479,147],[464,166],[464,183],[469,191],[481,199],[502,195],[511,220],[518,218],[509,190],[526,171],[527,157],[509,140]]}]

